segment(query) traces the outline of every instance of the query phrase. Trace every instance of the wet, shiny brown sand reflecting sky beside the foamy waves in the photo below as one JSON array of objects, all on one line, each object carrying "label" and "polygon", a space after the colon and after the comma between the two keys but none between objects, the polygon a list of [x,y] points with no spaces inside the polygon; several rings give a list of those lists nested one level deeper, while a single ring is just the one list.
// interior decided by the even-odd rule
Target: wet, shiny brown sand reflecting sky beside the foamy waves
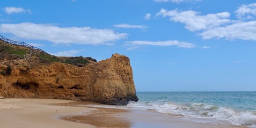
[{"label": "wet, shiny brown sand reflecting sky beside the foamy waves", "polygon": [[67,121],[90,124],[96,127],[175,127],[175,128],[231,128],[244,127],[235,126],[229,123],[202,123],[187,119],[184,116],[161,114],[150,110],[131,110],[131,109],[114,109],[99,108],[86,106],[87,103],[71,102],[68,106],[83,106],[89,108],[97,108],[97,110],[84,112],[82,115],[72,115],[64,117]]}]

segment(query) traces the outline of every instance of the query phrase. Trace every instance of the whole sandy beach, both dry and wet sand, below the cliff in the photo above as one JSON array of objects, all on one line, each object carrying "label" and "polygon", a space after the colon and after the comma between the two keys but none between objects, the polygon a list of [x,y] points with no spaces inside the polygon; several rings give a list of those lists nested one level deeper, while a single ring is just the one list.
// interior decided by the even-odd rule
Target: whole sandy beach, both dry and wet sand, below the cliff
[{"label": "whole sandy beach, both dry and wet sand, below the cliff", "polygon": [[156,111],[86,107],[92,102],[1,99],[1,127],[241,127],[202,123]]}]

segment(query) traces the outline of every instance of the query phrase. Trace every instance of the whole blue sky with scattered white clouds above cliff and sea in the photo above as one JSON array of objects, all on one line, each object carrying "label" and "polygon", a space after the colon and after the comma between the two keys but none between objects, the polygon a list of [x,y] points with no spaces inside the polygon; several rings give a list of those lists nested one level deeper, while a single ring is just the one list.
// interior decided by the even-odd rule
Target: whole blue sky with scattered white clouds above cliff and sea
[{"label": "whole blue sky with scattered white clouds above cliff and sea", "polygon": [[57,56],[126,55],[136,91],[256,91],[256,1],[1,0],[0,35]]}]

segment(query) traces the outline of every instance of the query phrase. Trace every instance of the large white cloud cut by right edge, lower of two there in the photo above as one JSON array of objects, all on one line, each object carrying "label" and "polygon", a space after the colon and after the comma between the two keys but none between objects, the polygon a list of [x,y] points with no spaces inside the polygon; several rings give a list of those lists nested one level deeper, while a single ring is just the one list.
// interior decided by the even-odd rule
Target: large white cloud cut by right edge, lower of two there
[{"label": "large white cloud cut by right edge, lower of two there", "polygon": [[256,41],[256,21],[238,22],[225,27],[218,27],[200,34],[203,39],[225,38]]}]

